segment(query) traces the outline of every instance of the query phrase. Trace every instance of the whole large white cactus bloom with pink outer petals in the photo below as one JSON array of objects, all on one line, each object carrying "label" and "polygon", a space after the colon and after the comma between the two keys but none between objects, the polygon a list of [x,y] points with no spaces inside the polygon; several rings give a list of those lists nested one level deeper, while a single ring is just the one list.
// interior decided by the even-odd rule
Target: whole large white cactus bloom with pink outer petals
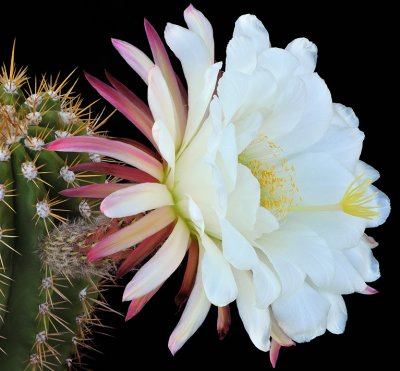
[{"label": "whole large white cactus bloom with pink outer petals", "polygon": [[178,295],[187,303],[171,351],[197,330],[211,305],[219,307],[223,336],[227,305],[236,300],[254,345],[272,346],[275,364],[280,345],[309,341],[326,329],[343,332],[341,295],[372,292],[365,282],[377,279],[379,268],[364,230],[385,221],[389,201],[371,185],[377,172],[359,161],[363,134],[356,116],[332,103],[314,72],[313,43],[296,39],[286,49],[271,48],[262,23],[242,16],[222,74],[207,19],[190,6],[185,20],[188,29],[168,24],[165,38],[182,63],[187,98],[148,23],[155,63],[126,42],[113,43],[148,84],[149,108],[112,76],[113,87],[88,77],[147,136],[161,162],[142,146],[96,137],[60,139],[47,148],[95,152],[130,165],[98,169],[138,184],[65,191],[105,198],[101,209],[108,217],[138,216],[99,242],[90,259],[136,246],[123,274],[157,251],[125,289],[128,318],[188,251]]}]

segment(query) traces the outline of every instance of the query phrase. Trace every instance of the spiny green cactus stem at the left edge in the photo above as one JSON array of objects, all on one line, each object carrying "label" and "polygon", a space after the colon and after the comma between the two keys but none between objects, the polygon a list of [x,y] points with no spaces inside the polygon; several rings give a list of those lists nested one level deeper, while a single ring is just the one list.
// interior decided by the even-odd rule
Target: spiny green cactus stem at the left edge
[{"label": "spiny green cactus stem at the left edge", "polygon": [[86,201],[63,199],[59,191],[104,179],[68,169],[98,161],[95,154],[57,154],[41,145],[92,134],[97,121],[83,118],[71,89],[61,94],[66,81],[43,78],[33,89],[26,80],[26,70],[15,70],[13,52],[10,70],[3,67],[0,76],[0,369],[73,369],[88,325],[96,324],[103,273],[55,272],[40,258],[47,246],[41,241],[60,222],[80,214],[90,219]]}]

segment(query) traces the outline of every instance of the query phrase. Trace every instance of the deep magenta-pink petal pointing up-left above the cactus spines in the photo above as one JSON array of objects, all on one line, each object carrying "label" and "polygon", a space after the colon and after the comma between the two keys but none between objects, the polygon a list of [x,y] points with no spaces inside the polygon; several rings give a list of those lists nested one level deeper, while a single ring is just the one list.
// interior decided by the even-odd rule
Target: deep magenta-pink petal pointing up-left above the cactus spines
[{"label": "deep magenta-pink petal pointing up-left above the cactus spines", "polygon": [[[151,136],[151,127],[153,126],[153,118],[149,115],[147,109],[142,110],[142,105],[137,105],[135,101],[131,101],[124,94],[115,90],[111,86],[105,84],[98,78],[85,73],[86,79],[90,85],[109,103],[111,103],[118,111],[120,111],[129,121],[131,121],[150,142],[153,142]],[[132,93],[133,94],[133,93]],[[137,98],[138,100],[139,98]]]}]

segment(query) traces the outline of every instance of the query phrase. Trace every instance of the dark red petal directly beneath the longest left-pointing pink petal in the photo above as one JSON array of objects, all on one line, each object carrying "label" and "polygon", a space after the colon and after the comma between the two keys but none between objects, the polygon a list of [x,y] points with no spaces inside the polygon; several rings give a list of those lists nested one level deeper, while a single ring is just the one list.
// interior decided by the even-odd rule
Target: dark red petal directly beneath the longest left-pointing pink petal
[{"label": "dark red petal directly beneath the longest left-pointing pink petal", "polygon": [[112,175],[120,179],[131,180],[136,183],[154,183],[157,179],[144,171],[135,169],[130,166],[123,166],[117,164],[110,164],[108,162],[82,162],[78,165],[72,166],[71,171],[91,171],[101,174]]}]

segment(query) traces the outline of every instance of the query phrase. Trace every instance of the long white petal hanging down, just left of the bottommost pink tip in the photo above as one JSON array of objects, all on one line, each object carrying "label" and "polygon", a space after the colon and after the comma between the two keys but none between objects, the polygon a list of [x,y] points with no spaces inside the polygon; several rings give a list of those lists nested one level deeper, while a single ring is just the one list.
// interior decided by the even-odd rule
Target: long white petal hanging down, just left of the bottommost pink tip
[{"label": "long white petal hanging down, just left of the bottommost pink tip", "polygon": [[238,296],[236,304],[244,328],[253,344],[260,350],[269,350],[270,317],[268,309],[259,309],[256,305],[256,295],[249,272],[235,270]]}]

